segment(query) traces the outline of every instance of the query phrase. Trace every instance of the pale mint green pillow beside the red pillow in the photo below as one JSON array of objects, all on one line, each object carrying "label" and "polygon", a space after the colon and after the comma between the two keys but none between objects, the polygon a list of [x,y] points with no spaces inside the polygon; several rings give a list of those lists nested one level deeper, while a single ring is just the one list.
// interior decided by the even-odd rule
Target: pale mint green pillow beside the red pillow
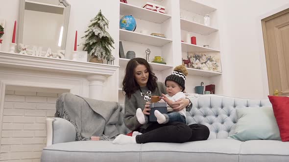
[{"label": "pale mint green pillow beside the red pillow", "polygon": [[248,107],[237,110],[235,132],[228,138],[248,140],[281,140],[272,107]]}]

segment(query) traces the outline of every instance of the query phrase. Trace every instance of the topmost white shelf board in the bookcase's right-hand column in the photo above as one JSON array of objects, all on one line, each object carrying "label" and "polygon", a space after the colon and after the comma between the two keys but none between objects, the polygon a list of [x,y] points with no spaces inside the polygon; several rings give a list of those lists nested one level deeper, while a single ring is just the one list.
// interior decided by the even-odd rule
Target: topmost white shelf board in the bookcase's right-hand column
[{"label": "topmost white shelf board in the bookcase's right-hand column", "polygon": [[193,0],[180,0],[180,8],[199,15],[206,15],[216,10],[216,8],[195,2]]}]

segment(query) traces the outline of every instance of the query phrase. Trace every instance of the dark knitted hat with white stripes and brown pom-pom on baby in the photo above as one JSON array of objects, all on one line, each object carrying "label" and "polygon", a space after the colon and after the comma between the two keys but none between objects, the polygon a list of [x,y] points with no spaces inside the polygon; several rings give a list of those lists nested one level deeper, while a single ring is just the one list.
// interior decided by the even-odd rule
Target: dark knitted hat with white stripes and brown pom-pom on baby
[{"label": "dark knitted hat with white stripes and brown pom-pom on baby", "polygon": [[[165,84],[167,86],[167,81],[175,81],[185,90],[185,80],[188,75],[188,70],[184,65],[179,65],[173,69],[173,72],[166,78]],[[183,92],[182,91],[182,92]]]}]

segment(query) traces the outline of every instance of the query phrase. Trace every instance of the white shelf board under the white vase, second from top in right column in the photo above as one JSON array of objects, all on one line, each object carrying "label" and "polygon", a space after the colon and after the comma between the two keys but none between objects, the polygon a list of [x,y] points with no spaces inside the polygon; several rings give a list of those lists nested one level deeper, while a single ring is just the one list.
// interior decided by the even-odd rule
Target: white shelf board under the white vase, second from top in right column
[{"label": "white shelf board under the white vase, second from top in right column", "polygon": [[218,31],[218,29],[216,28],[205,26],[203,24],[185,19],[181,19],[181,29],[186,30],[188,32],[199,33],[201,35],[209,35],[211,33]]}]

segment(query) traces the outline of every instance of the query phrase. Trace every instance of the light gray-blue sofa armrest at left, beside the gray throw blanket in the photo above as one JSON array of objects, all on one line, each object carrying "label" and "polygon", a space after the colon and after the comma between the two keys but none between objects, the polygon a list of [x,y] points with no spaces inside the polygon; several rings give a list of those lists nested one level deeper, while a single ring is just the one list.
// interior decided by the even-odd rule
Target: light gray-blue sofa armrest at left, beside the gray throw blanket
[{"label": "light gray-blue sofa armrest at left, beside the gray throw blanket", "polygon": [[64,143],[75,141],[76,130],[70,121],[62,118],[47,118],[47,144]]}]

